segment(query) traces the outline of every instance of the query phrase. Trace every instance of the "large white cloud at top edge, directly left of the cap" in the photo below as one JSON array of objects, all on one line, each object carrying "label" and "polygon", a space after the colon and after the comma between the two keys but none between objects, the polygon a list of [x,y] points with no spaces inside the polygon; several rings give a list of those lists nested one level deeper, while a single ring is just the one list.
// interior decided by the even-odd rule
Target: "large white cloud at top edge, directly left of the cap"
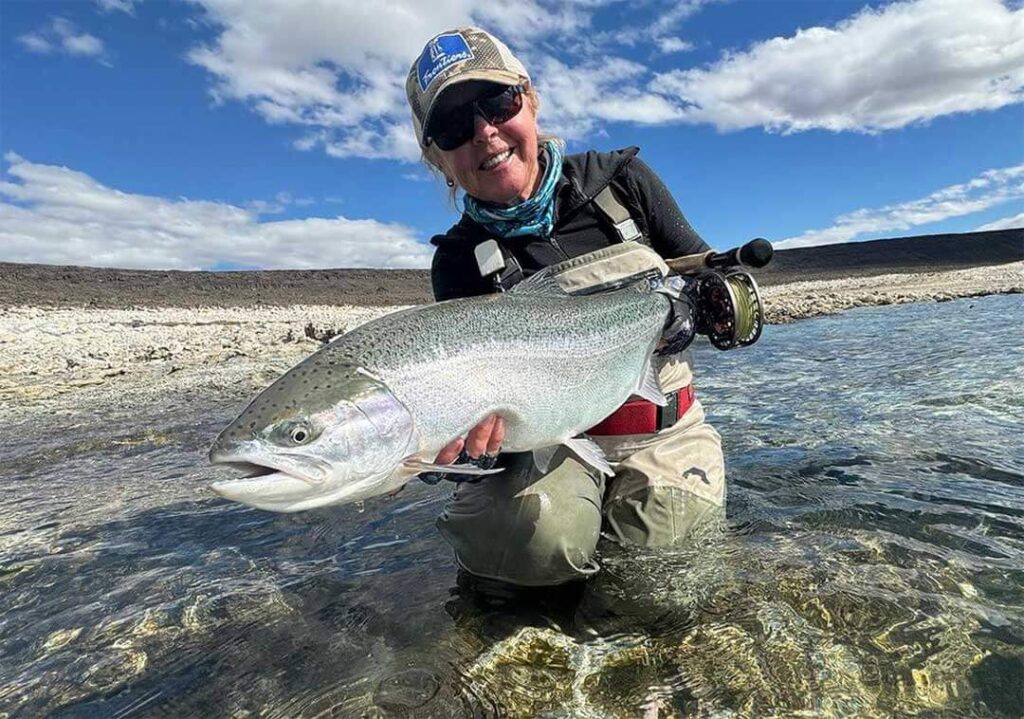
[{"label": "large white cloud at top edge, directly left of the cap", "polygon": [[406,74],[431,31],[470,22],[468,2],[198,0],[220,30],[189,53],[220,100],[271,123],[306,126],[303,149],[338,157],[419,158]]}]

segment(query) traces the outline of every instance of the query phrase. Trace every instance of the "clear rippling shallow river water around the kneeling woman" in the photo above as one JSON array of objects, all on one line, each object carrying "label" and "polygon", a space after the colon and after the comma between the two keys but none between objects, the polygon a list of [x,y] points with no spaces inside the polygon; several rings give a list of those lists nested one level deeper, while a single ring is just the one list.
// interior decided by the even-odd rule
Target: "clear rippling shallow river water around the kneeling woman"
[{"label": "clear rippling shallow river water around the kneeling woman", "polygon": [[442,487],[215,499],[248,396],[8,428],[0,716],[1021,716],[1022,326],[999,296],[701,347],[728,525],[512,598],[458,577]]}]

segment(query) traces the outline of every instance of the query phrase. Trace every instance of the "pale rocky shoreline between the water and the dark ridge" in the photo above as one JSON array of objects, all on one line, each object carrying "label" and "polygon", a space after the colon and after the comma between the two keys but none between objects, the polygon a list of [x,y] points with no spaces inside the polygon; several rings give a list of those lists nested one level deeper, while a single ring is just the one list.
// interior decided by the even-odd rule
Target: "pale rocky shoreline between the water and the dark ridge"
[{"label": "pale rocky shoreline between the water and the dark ridge", "polygon": [[[1024,262],[763,288],[769,323],[865,305],[1024,293]],[[0,420],[247,396],[330,337],[400,306],[0,306]]]}]

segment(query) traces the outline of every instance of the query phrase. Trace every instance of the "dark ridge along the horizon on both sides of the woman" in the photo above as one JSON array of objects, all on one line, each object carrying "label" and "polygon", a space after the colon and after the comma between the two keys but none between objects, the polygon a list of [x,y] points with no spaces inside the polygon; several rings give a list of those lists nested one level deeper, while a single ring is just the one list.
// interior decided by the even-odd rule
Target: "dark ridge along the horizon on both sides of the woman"
[{"label": "dark ridge along the horizon on both sides of the woman", "polygon": [[[780,250],[755,276],[762,285],[780,285],[1018,260],[1024,260],[1024,228]],[[431,299],[425,269],[206,272],[0,262],[0,306],[403,305]]]}]

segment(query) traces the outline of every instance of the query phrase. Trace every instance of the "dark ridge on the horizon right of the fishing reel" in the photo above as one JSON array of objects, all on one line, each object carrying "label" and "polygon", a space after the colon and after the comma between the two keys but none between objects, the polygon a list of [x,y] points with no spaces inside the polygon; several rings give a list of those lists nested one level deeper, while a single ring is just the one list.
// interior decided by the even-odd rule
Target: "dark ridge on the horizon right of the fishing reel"
[{"label": "dark ridge on the horizon right of the fishing reel", "polygon": [[762,285],[893,272],[938,272],[1024,260],[1024,228],[923,235],[777,250],[754,270]]}]

